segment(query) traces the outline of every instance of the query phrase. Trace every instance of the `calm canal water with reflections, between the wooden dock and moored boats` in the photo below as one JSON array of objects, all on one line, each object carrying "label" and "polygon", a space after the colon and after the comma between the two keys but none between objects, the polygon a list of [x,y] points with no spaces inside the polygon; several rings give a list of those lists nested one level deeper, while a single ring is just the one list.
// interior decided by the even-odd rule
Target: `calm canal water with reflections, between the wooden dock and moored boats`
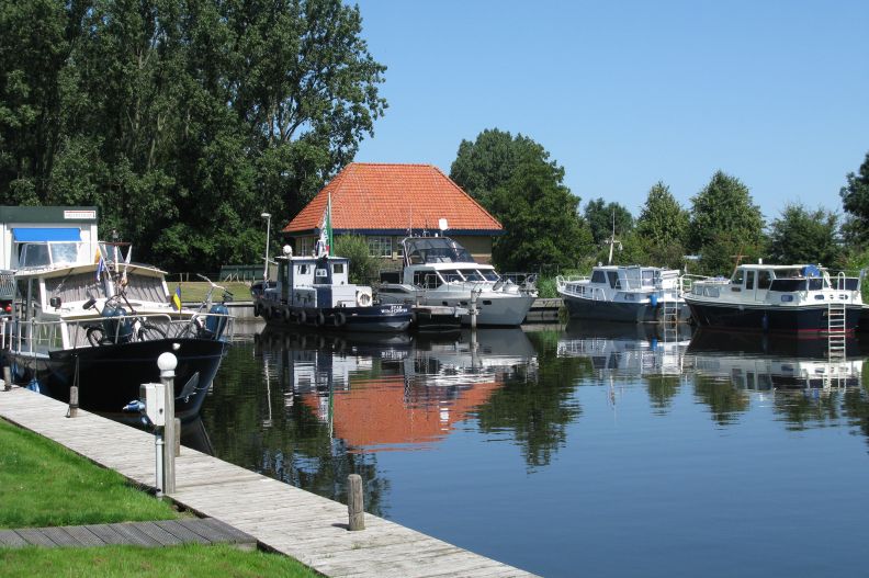
[{"label": "calm canal water with reflections, between the wooden dock and moored boats", "polygon": [[218,457],[340,501],[361,474],[368,511],[544,576],[866,575],[867,354],[830,379],[815,345],[264,330],[203,426]]}]

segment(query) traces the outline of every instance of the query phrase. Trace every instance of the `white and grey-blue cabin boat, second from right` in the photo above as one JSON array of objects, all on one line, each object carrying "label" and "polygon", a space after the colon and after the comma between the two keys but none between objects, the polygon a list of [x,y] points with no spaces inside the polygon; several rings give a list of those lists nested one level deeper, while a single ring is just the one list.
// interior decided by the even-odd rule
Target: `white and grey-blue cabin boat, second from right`
[{"label": "white and grey-blue cabin boat, second from right", "polygon": [[555,280],[571,317],[634,324],[687,321],[679,271],[659,267],[597,265],[590,276]]}]

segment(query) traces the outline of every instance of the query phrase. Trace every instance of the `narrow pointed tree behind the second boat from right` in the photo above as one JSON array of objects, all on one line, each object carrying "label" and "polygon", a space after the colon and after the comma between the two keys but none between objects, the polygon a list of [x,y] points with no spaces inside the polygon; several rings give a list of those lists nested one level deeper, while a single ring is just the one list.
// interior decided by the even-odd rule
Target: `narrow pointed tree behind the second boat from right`
[{"label": "narrow pointed tree behind the second boat from right", "polygon": [[688,237],[688,212],[673,196],[669,186],[658,181],[648,191],[636,219],[636,234],[643,239],[652,264],[678,268]]}]

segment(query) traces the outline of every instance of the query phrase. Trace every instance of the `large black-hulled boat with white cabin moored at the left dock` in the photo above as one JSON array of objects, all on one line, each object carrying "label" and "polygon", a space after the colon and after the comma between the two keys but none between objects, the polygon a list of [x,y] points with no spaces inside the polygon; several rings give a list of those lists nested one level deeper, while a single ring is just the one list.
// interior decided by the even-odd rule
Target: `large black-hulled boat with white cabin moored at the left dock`
[{"label": "large black-hulled boat with white cabin moored at the left dock", "polygon": [[176,416],[194,419],[232,332],[226,307],[176,306],[163,271],[122,259],[116,246],[101,243],[97,262],[76,241],[21,247],[3,331],[13,379],[63,401],[77,385],[82,409],[120,415],[171,352]]}]

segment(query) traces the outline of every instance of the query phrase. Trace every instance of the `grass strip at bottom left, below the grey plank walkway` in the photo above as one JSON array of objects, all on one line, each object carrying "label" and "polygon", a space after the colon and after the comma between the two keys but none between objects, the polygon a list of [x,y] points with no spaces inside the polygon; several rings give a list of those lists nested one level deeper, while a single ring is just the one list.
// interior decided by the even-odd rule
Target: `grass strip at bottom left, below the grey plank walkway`
[{"label": "grass strip at bottom left, below the grey plank walkway", "polygon": [[0,548],[0,576],[4,578],[19,576],[304,578],[319,575],[293,558],[278,554],[242,552],[223,544],[213,546],[184,544],[161,548],[138,546]]}]

